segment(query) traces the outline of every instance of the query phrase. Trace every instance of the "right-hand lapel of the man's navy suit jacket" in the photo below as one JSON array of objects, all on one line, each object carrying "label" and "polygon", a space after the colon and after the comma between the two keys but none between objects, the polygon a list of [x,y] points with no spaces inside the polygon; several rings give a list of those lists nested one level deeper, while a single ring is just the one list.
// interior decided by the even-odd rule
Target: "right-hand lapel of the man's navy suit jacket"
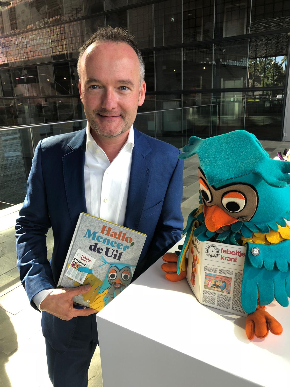
[{"label": "right-hand lapel of the man's navy suit jacket", "polygon": [[146,156],[152,149],[146,137],[135,128],[134,143],[124,226],[138,231],[152,171]]}]

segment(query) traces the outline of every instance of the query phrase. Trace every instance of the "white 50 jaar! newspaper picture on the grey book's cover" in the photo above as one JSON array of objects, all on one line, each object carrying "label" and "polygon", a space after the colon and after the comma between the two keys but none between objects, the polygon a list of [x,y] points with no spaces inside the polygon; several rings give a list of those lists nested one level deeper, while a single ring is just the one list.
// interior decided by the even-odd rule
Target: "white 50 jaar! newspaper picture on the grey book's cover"
[{"label": "white 50 jaar! newspaper picture on the grey book's cover", "polygon": [[92,269],[95,260],[96,259],[90,255],[78,249],[75,253],[75,256],[73,257],[72,262],[70,262],[65,275],[82,285],[85,281],[85,277],[87,277],[88,272],[90,272],[90,270],[84,270],[83,268],[85,267],[86,269]]}]

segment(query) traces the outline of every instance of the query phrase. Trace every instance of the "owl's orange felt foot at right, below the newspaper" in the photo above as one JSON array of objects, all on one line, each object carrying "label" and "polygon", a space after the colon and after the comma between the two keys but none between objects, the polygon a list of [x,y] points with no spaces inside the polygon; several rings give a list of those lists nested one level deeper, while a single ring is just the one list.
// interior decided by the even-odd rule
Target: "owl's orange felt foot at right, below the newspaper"
[{"label": "owl's orange felt foot at right, below the newspaper", "polygon": [[280,335],[283,330],[280,322],[266,312],[264,306],[258,306],[255,312],[249,314],[246,319],[247,337],[249,340],[252,340],[254,336],[264,339],[268,336],[269,329],[274,335]]}]

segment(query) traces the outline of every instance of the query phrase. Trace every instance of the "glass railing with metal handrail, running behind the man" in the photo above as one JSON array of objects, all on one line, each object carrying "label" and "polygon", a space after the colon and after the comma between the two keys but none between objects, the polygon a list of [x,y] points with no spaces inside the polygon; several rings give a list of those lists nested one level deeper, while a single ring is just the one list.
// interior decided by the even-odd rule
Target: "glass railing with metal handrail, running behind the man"
[{"label": "glass railing with metal handrail, running behind the man", "polygon": [[[85,127],[87,120],[50,122],[0,128],[0,202],[18,204],[26,195],[26,182],[34,149],[41,139]],[[218,104],[138,113],[134,126],[147,135],[181,148],[189,137],[217,134]]]}]

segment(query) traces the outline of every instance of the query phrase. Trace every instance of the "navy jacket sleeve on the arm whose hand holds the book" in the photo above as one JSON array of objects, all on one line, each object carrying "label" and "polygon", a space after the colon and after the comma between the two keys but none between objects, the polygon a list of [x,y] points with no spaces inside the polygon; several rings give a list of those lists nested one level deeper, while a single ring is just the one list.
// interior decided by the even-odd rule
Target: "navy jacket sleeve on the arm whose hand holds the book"
[{"label": "navy jacket sleeve on the arm whose hand holds the book", "polygon": [[41,142],[35,149],[27,181],[27,194],[16,229],[17,267],[29,301],[44,289],[55,288],[51,266],[46,258],[46,233],[51,227],[46,201],[46,188],[41,166]]}]

